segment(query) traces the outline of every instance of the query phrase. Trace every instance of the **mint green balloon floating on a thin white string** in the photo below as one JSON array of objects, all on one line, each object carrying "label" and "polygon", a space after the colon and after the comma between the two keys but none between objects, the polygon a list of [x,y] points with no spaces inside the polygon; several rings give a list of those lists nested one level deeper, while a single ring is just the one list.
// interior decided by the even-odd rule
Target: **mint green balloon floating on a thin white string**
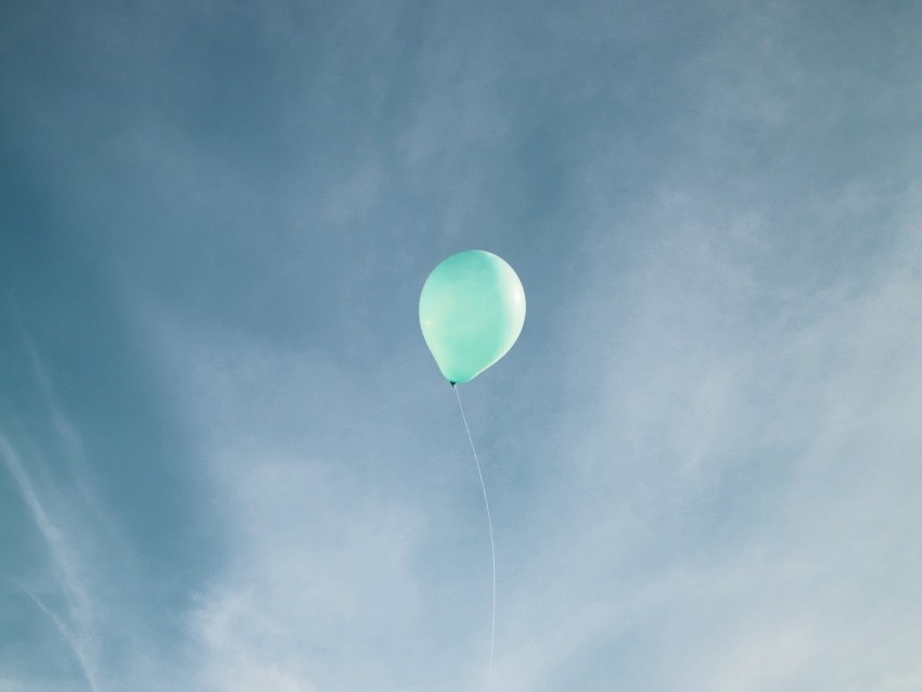
[{"label": "mint green balloon floating on a thin white string", "polygon": [[504,259],[469,249],[433,269],[420,295],[420,326],[441,374],[469,382],[502,358],[525,323],[525,290]]}]

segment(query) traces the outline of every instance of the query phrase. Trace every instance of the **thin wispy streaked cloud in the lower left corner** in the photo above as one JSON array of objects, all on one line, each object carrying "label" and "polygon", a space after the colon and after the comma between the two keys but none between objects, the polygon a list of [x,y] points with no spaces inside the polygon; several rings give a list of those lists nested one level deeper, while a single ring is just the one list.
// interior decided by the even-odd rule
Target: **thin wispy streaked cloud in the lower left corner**
[{"label": "thin wispy streaked cloud in the lower left corner", "polygon": [[[157,661],[169,645],[153,631],[156,617],[137,597],[146,589],[145,599],[162,599],[158,585],[144,579],[139,551],[128,547],[119,522],[101,499],[99,476],[89,471],[93,460],[85,457],[84,436],[59,398],[52,368],[20,322],[16,305],[12,308],[22,349],[11,351],[11,364],[26,384],[10,395],[25,414],[10,417],[0,430],[0,459],[9,472],[3,475],[12,479],[38,529],[38,550],[14,549],[4,563],[7,577],[17,587],[8,597],[15,603],[26,595],[29,606],[14,610],[9,620],[28,649],[26,655],[13,653],[15,670],[24,676],[33,671],[26,679],[35,690],[56,690],[59,684],[86,684],[94,692],[113,684],[149,689],[144,676],[153,669],[157,681],[170,679]],[[55,364],[62,367],[61,361]],[[39,406],[29,406],[30,397]],[[10,511],[22,508],[14,503]],[[17,525],[15,518],[12,525]],[[42,645],[39,632],[46,631],[57,640]],[[67,655],[60,654],[62,644]],[[161,644],[162,651],[154,652]]]}]

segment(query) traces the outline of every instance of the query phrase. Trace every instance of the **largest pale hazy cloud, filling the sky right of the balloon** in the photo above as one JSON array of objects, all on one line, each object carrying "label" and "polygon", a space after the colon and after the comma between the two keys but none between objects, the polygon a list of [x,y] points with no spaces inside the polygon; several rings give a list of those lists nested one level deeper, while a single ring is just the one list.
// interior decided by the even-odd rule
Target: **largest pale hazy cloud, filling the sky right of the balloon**
[{"label": "largest pale hazy cloud, filling the sky right of the balloon", "polygon": [[[498,680],[507,690],[580,676],[600,690],[914,680],[914,222],[863,268],[792,277],[770,264],[789,241],[765,219],[663,200],[645,241],[622,251],[633,254],[629,273],[613,279],[600,248],[575,300],[573,322],[586,329],[573,330],[568,372],[588,403],[561,417],[562,453],[545,459],[563,483],[540,491],[550,533],[507,577],[515,605],[499,615]],[[593,665],[609,676],[592,678]]]}]

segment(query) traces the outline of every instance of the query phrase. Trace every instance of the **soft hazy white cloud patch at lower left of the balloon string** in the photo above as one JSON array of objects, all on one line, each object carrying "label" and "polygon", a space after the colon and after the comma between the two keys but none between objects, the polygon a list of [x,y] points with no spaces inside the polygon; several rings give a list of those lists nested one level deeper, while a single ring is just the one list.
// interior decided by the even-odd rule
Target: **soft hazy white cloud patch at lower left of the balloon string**
[{"label": "soft hazy white cloud patch at lower left of the balloon string", "polygon": [[185,372],[169,379],[187,384],[176,403],[200,431],[203,510],[226,546],[189,613],[196,679],[418,689],[414,676],[433,671],[400,662],[433,645],[422,610],[433,595],[417,574],[433,538],[394,459],[387,395],[374,400],[318,353],[169,332],[164,362]]}]

